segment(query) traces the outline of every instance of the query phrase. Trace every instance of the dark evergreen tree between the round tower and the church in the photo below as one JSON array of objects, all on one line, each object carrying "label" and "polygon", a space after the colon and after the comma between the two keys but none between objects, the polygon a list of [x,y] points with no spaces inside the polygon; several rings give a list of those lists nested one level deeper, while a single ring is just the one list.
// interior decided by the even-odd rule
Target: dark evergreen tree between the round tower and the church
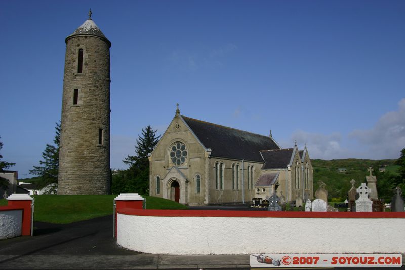
[{"label": "dark evergreen tree between the round tower and the church", "polygon": [[[136,140],[135,155],[128,155],[123,162],[129,164],[130,168],[115,177],[112,190],[118,193],[118,185],[124,190],[119,192],[138,192],[139,194],[147,194],[149,189],[149,159],[148,155],[153,151],[160,135],[156,136],[156,130],[151,126],[142,129],[142,134]],[[123,184],[123,182],[126,184]]]}]

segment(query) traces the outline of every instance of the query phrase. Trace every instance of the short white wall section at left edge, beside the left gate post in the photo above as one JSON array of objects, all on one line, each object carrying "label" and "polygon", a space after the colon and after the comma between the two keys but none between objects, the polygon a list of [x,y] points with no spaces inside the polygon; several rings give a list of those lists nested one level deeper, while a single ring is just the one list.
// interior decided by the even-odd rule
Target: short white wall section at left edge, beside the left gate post
[{"label": "short white wall section at left edge, beside the left gate post", "polygon": [[20,236],[21,225],[22,210],[0,211],[0,239]]}]

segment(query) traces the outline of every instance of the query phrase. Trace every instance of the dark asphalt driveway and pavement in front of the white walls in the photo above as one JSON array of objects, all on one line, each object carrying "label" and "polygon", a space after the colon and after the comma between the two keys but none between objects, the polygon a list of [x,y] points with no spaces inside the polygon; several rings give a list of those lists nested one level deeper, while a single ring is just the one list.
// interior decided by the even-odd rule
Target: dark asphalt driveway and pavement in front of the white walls
[{"label": "dark asphalt driveway and pavement in front of the white walls", "polygon": [[66,225],[35,222],[34,226],[33,237],[0,241],[0,269],[250,268],[249,255],[175,256],[123,249],[112,238],[112,215]]}]

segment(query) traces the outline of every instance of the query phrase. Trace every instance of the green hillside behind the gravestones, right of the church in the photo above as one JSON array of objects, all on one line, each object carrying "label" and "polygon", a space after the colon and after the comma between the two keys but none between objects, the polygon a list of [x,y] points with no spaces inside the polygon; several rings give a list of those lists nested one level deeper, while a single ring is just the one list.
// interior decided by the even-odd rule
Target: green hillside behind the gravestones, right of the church
[{"label": "green hillside behind the gravestones, right of the church", "polygon": [[[373,167],[373,175],[377,176],[377,191],[380,197],[389,201],[392,197],[392,187],[387,184],[388,179],[398,175],[395,165],[396,160],[363,160],[363,159],[339,159],[339,160],[311,160],[313,167],[314,192],[319,186],[319,181],[325,182],[328,190],[328,200],[344,201],[350,190],[350,180],[356,181],[355,186],[366,182],[367,171]],[[380,172],[379,168],[385,168]],[[341,171],[339,171],[341,169]]]}]

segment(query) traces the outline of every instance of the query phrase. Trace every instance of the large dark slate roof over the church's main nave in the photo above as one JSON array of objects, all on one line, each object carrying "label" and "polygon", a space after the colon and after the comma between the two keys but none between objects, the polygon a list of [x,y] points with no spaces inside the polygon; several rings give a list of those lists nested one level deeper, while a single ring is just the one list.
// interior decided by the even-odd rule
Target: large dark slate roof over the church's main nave
[{"label": "large dark slate roof over the church's main nave", "polygon": [[181,118],[204,147],[212,150],[211,156],[263,162],[260,155],[261,150],[280,149],[269,136],[208,123],[183,115]]}]

